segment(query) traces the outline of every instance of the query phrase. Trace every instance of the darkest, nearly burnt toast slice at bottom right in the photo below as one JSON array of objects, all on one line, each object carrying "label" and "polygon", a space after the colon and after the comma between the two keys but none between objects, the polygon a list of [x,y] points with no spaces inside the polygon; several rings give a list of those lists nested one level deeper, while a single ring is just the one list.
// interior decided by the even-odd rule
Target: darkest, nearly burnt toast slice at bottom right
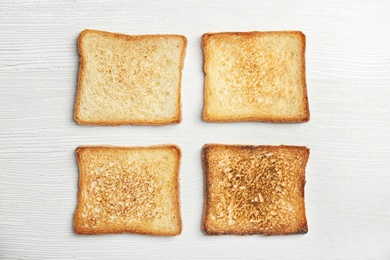
[{"label": "darkest, nearly burnt toast slice at bottom right", "polygon": [[301,146],[204,145],[204,233],[307,233],[308,157]]}]

